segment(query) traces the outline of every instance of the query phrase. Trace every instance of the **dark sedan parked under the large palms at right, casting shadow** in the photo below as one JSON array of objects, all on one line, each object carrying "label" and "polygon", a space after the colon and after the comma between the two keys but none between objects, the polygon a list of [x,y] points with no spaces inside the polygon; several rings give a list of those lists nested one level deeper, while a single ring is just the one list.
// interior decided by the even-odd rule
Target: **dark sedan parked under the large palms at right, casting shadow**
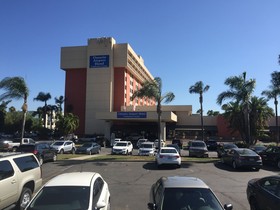
[{"label": "dark sedan parked under the large palms at right, casting shadow", "polygon": [[221,161],[234,169],[244,167],[260,170],[262,158],[256,152],[247,148],[233,148],[222,154]]}]

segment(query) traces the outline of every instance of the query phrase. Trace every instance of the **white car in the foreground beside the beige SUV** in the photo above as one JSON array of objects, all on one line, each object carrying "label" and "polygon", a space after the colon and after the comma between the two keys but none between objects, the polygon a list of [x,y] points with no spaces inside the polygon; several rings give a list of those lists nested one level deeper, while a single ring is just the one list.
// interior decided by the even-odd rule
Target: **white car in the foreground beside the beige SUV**
[{"label": "white car in the foreground beside the beige SUV", "polygon": [[33,197],[26,210],[110,209],[108,184],[95,172],[72,172],[47,182]]}]

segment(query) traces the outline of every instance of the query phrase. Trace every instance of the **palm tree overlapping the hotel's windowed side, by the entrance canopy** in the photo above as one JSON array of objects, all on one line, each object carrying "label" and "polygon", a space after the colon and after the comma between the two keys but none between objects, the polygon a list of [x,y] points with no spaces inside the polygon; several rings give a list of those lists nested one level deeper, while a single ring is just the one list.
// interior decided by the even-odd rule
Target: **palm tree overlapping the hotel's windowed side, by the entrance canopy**
[{"label": "palm tree overlapping the hotel's windowed side, by the entrance canopy", "polygon": [[162,95],[162,80],[160,77],[155,77],[154,80],[145,81],[143,86],[136,90],[131,100],[138,98],[149,98],[154,99],[157,103],[157,114],[158,114],[158,140],[159,140],[159,150],[161,148],[161,102],[169,103],[175,98],[174,93],[167,92]]}]

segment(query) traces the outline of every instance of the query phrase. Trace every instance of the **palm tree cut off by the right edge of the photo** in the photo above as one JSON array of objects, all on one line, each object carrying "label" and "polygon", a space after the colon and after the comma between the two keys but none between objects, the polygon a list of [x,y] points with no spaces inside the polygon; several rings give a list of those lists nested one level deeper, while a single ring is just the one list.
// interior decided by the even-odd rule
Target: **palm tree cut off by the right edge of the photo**
[{"label": "palm tree cut off by the right edge of the photo", "polygon": [[278,126],[278,96],[280,95],[280,72],[274,71],[271,74],[271,85],[269,86],[269,90],[264,90],[262,95],[266,96],[268,100],[274,100],[275,106],[275,123],[277,129],[277,144],[279,144],[279,126]]}]

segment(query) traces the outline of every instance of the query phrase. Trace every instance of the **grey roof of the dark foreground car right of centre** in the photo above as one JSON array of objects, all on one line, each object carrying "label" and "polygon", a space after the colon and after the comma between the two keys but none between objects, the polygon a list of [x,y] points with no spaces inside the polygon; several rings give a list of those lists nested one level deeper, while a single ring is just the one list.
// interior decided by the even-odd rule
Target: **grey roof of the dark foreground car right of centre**
[{"label": "grey roof of the dark foreground car right of centre", "polygon": [[188,176],[162,177],[165,188],[209,188],[201,179]]}]

